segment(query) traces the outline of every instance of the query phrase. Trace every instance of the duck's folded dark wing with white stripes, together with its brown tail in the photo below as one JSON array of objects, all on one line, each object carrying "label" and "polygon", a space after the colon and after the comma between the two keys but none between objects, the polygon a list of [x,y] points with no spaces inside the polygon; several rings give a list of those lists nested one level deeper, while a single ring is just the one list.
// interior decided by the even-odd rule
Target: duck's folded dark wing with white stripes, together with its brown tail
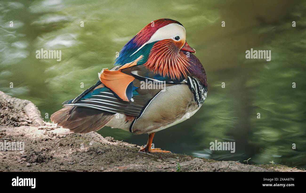
[{"label": "duck's folded dark wing with white stripes, together with its brown tail", "polygon": [[73,132],[97,131],[109,123],[116,113],[139,116],[146,104],[160,91],[136,88],[132,91],[132,100],[124,101],[104,84],[97,83],[76,99],[65,101],[64,108],[50,118],[58,126]]}]

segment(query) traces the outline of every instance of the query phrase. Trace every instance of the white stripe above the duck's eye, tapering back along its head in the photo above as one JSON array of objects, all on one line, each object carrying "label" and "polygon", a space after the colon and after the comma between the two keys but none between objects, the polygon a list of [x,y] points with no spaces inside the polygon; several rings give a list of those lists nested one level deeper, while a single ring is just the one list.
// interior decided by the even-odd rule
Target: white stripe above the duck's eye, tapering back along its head
[{"label": "white stripe above the duck's eye, tapering back along its head", "polygon": [[[147,45],[149,43],[160,41],[160,40],[163,40],[163,39],[170,39],[170,38],[174,39],[176,36],[180,37],[179,40],[185,41],[186,40],[186,30],[185,30],[185,28],[180,24],[168,24],[164,27],[159,28],[157,31],[155,31],[155,33],[151,36],[149,41],[147,41],[142,46],[140,46],[140,48],[138,48],[136,50],[136,52],[138,52],[138,50],[140,50],[142,47],[144,47],[145,45]],[[134,53],[136,53],[136,52],[134,52]],[[132,53],[132,55],[134,53]]]}]

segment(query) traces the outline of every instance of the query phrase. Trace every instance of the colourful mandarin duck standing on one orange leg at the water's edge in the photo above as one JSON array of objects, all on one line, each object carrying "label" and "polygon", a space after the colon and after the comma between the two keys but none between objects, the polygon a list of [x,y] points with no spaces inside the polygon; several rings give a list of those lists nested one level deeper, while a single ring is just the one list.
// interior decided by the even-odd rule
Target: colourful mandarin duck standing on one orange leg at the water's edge
[{"label": "colourful mandarin duck standing on one orange leg at the water's edge", "polygon": [[139,151],[170,152],[151,149],[154,134],[199,110],[207,96],[207,78],[181,23],[151,23],[123,46],[115,67],[98,73],[98,82],[65,101],[51,121],[77,133],[104,126],[148,133],[147,145]]}]

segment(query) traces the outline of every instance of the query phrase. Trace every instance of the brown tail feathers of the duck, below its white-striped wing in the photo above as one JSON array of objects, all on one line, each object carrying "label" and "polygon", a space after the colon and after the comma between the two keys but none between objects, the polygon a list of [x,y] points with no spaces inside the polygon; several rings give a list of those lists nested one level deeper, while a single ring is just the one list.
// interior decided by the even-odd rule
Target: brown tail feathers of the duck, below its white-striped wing
[{"label": "brown tail feathers of the duck, below its white-striped wing", "polygon": [[51,115],[51,121],[76,133],[98,131],[114,118],[114,113],[69,106]]}]

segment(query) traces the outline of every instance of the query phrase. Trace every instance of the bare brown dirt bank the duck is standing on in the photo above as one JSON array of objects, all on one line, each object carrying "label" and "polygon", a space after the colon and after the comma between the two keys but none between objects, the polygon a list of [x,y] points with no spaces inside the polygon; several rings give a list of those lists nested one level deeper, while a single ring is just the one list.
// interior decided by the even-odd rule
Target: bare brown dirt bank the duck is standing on
[{"label": "bare brown dirt bank the duck is standing on", "polygon": [[[24,142],[24,152],[1,144]],[[0,171],[303,171],[282,165],[246,165],[189,155],[139,152],[140,146],[71,133],[43,122],[38,108],[0,91]]]}]

